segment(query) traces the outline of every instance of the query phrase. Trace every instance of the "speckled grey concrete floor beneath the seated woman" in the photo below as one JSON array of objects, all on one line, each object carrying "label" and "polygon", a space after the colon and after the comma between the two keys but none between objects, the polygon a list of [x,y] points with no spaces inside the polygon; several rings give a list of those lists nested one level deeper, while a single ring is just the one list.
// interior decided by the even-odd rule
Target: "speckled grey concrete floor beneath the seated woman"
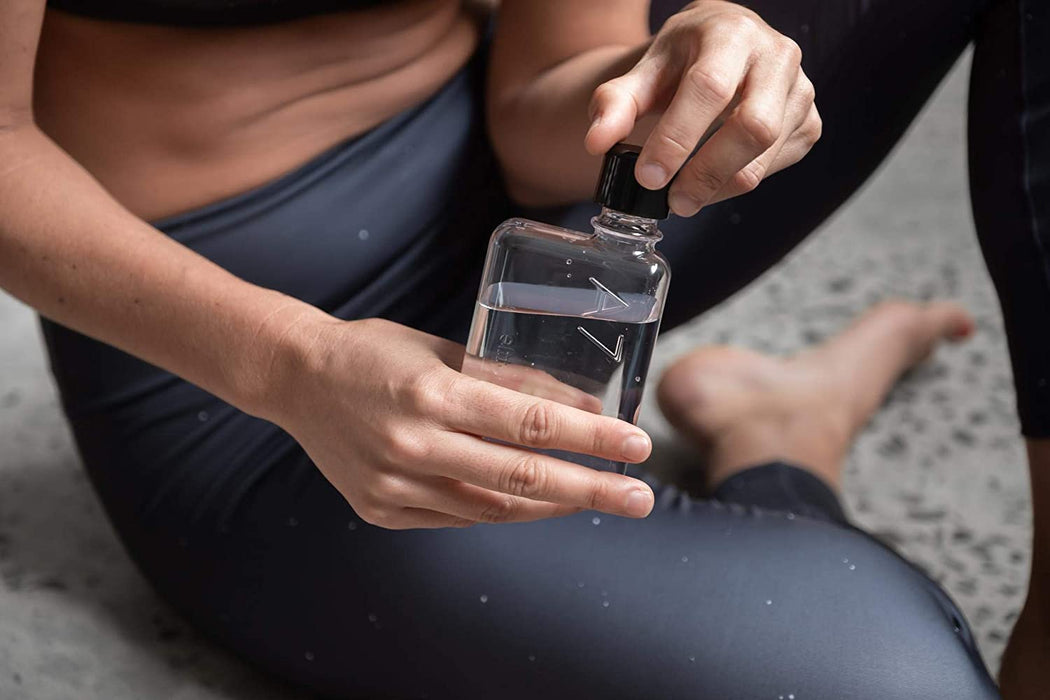
[{"label": "speckled grey concrete floor beneath the seated woman", "polygon": [[[951,297],[979,335],[909,376],[858,441],[857,521],[962,604],[993,669],[1025,590],[1029,501],[1002,320],[965,188],[965,66],[880,175],[783,266],[662,341],[791,352],[888,296]],[[132,569],[80,470],[32,315],[0,296],[0,698],[299,697],[198,639]],[[685,449],[650,404],[654,460]]]}]

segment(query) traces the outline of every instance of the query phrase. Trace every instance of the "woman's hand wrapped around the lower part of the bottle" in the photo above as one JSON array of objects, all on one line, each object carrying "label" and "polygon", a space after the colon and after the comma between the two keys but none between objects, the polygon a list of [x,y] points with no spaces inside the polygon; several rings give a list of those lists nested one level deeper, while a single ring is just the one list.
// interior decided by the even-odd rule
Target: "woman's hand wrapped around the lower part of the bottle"
[{"label": "woman's hand wrapped around the lower part of the bottle", "polygon": [[382,321],[311,321],[270,418],[363,519],[463,527],[601,510],[642,517],[643,482],[497,444],[640,462],[639,428],[460,374],[463,347]]}]

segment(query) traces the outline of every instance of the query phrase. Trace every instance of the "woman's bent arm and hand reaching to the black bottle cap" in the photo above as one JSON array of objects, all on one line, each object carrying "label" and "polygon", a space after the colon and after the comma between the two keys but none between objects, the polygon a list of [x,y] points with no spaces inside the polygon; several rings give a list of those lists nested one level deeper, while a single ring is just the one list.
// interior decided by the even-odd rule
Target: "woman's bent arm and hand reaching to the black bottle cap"
[{"label": "woman's bent arm and hand reaching to the black bottle cap", "polygon": [[[505,0],[489,71],[489,130],[512,194],[588,196],[598,158],[644,142],[636,174],[671,207],[753,189],[820,136],[798,46],[750,9],[699,0],[648,31],[645,0]],[[714,128],[695,155],[693,149]]]}]

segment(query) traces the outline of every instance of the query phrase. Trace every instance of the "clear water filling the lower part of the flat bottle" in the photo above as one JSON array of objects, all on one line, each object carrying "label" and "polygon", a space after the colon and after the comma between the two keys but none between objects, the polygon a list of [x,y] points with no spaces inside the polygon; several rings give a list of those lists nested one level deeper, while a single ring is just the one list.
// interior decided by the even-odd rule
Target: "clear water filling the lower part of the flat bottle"
[{"label": "clear water filling the lower part of the flat bottle", "polygon": [[[480,296],[463,370],[525,394],[637,421],[659,328],[654,297],[586,288],[490,284]],[[552,452],[587,466],[623,463]]]}]

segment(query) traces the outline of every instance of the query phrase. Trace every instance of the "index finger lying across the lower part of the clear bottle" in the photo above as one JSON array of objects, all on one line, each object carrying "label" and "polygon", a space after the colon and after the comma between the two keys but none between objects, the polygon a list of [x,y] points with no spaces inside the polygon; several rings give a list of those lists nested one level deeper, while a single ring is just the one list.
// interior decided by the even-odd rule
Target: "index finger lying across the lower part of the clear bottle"
[{"label": "index finger lying across the lower part of the clear bottle", "polygon": [[452,388],[444,424],[503,442],[580,452],[615,462],[642,462],[652,443],[637,426],[481,380],[464,378]]}]

